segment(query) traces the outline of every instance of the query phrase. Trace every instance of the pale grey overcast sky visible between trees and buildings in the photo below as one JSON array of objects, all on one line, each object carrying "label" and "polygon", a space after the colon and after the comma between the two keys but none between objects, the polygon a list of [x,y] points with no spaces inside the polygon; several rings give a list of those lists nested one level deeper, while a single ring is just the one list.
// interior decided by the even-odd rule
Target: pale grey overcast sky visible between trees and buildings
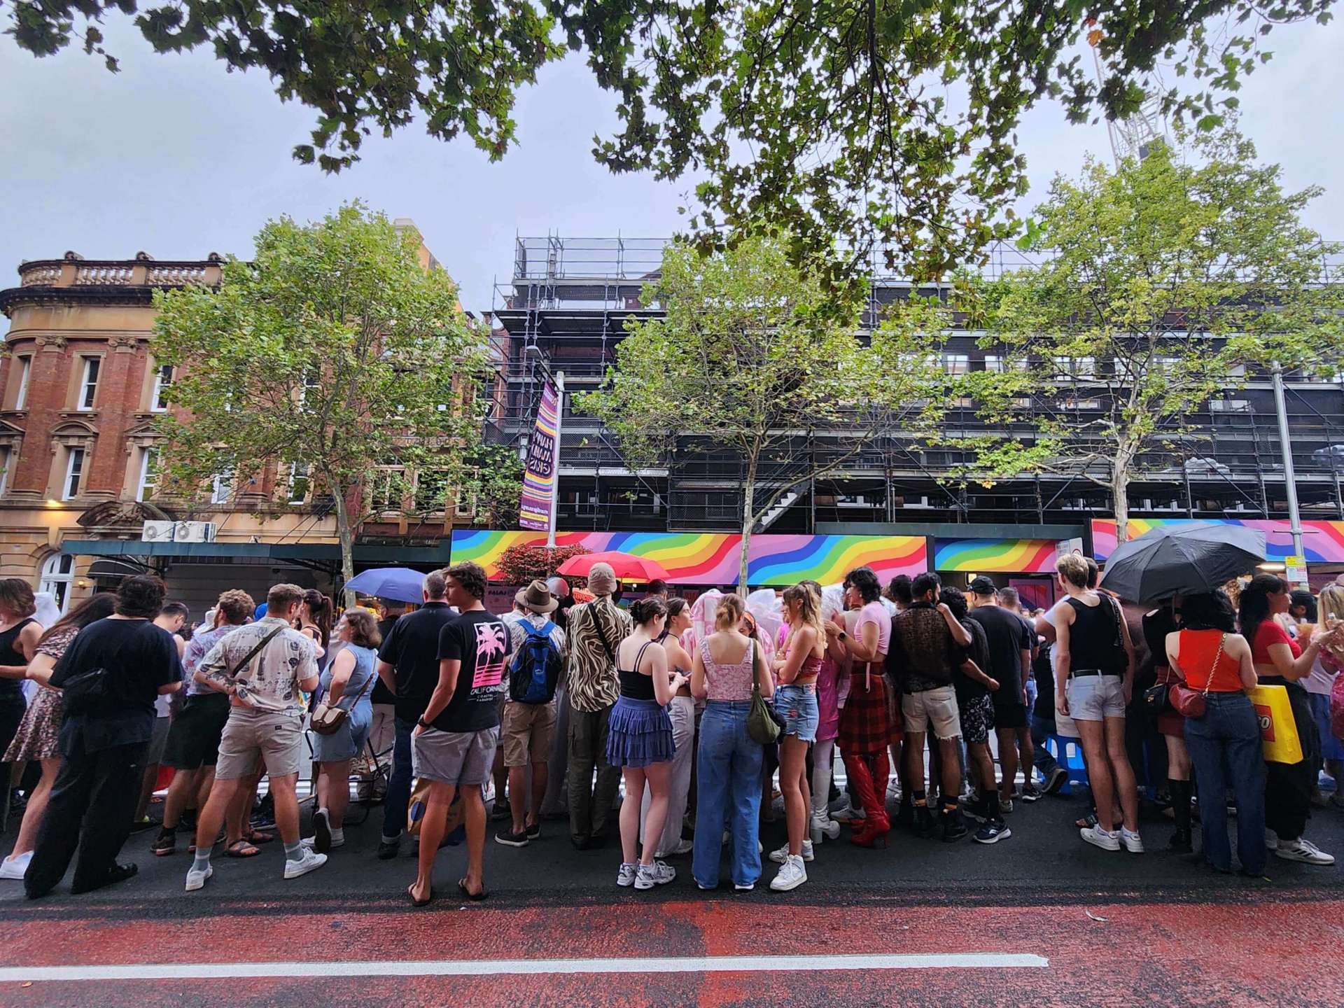
[{"label": "pale grey overcast sky visible between trees and buildings", "polygon": [[[491,164],[466,140],[444,144],[418,126],[366,141],[363,160],[336,176],[298,165],[313,114],[281,105],[259,73],[228,74],[206,51],[161,56],[113,22],[121,74],[73,47],[34,59],[0,36],[0,286],[23,259],[159,259],[247,255],[270,216],[321,216],[363,199],[415,220],[462,288],[488,309],[512,267],[515,235],[661,238],[681,223],[685,184],[613,176],[590,155],[614,125],[614,98],[571,58],[519,99],[519,145]],[[1344,20],[1275,30],[1274,59],[1242,91],[1242,128],[1293,188],[1322,185],[1308,223],[1344,239]],[[1058,106],[1034,110],[1020,133],[1034,194],[1085,152],[1109,157],[1105,126],[1070,126]]]}]

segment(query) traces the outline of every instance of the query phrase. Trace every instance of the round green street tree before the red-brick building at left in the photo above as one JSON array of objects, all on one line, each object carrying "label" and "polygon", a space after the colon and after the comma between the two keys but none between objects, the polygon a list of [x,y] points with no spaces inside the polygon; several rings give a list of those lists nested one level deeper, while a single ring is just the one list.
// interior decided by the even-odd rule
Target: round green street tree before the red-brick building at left
[{"label": "round green street tree before the red-brick building at left", "polygon": [[419,247],[413,228],[351,204],[312,224],[269,222],[218,290],[157,292],[152,351],[179,368],[163,421],[169,482],[191,496],[214,473],[308,466],[333,499],[347,577],[363,511],[351,511],[352,492],[374,465],[419,472],[415,495],[387,491],[415,496],[419,512],[473,493],[485,340]]}]

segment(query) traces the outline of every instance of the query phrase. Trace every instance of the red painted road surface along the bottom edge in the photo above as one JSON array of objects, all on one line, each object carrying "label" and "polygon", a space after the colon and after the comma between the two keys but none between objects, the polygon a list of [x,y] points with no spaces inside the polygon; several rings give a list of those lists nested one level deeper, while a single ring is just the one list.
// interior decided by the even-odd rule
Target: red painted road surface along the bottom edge
[{"label": "red painted road surface along the bottom edge", "polygon": [[[801,894],[801,890],[800,890]],[[800,894],[793,894],[794,896]],[[1344,900],[952,909],[731,898],[336,913],[220,900],[200,917],[144,903],[12,906],[3,966],[1030,953],[1048,968],[0,982],[4,1005],[1136,1005],[1344,1004]],[[1090,914],[1090,915],[1089,915]]]}]

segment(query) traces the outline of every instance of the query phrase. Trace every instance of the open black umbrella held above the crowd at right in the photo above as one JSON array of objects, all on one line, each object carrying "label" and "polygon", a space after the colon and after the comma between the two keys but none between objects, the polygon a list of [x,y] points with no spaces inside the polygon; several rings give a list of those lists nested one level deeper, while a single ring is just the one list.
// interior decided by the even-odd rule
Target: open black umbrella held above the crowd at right
[{"label": "open black umbrella held above the crowd at right", "polygon": [[1265,559],[1265,534],[1215,521],[1165,526],[1121,543],[1102,586],[1133,602],[1212,591]]}]

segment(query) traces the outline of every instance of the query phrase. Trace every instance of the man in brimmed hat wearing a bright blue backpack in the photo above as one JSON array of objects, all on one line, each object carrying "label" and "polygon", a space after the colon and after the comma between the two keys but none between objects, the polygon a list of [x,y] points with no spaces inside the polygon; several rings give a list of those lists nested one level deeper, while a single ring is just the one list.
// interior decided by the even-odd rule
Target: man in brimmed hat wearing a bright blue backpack
[{"label": "man in brimmed hat wearing a bright blue backpack", "polygon": [[[500,728],[513,824],[496,833],[495,841],[527,847],[542,835],[547,759],[555,739],[555,688],[564,668],[566,648],[564,630],[551,618],[558,602],[544,581],[534,581],[513,601],[520,612],[501,617],[512,638],[513,660]],[[531,801],[526,797],[528,766],[532,769]]]}]

